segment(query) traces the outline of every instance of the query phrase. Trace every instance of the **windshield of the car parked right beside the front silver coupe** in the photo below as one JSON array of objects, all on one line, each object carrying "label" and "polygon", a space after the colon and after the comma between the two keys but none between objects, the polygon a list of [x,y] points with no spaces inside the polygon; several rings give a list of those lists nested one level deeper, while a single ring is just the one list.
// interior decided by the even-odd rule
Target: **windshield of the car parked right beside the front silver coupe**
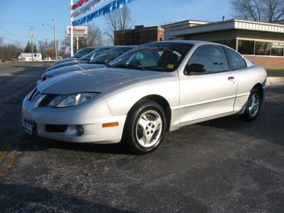
[{"label": "windshield of the car parked right beside the front silver coupe", "polygon": [[110,50],[105,51],[101,55],[98,55],[96,58],[90,60],[89,62],[96,64],[106,64],[131,49],[132,48],[112,48]]}]

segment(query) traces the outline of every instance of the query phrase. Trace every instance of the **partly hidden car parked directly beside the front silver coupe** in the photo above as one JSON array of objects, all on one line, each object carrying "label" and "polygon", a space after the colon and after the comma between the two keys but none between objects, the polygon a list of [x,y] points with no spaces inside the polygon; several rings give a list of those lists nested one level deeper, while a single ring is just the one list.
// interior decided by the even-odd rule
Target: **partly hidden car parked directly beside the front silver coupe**
[{"label": "partly hidden car parked directly beside the front silver coupe", "polygon": [[111,48],[104,53],[98,55],[97,57],[93,58],[92,60],[85,62],[84,64],[78,65],[70,65],[66,67],[59,67],[55,70],[50,70],[43,73],[40,80],[38,80],[37,84],[44,82],[45,80],[50,79],[50,77],[54,77],[56,75],[60,75],[65,72],[72,72],[77,70],[90,70],[98,67],[104,67],[107,63],[111,62],[112,60],[116,59],[123,53],[135,48],[136,45],[129,45],[129,46],[116,46],[116,48]]}]

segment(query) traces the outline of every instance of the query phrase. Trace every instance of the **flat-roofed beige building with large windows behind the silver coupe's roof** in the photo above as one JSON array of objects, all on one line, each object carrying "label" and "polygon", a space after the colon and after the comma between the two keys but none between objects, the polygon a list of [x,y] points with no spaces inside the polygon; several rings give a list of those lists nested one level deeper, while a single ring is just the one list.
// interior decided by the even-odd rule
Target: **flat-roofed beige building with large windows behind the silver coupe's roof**
[{"label": "flat-roofed beige building with large windows behind the silver coupe's roof", "polygon": [[284,56],[281,22],[187,20],[161,27],[165,29],[165,40],[207,40],[228,45],[244,55]]}]

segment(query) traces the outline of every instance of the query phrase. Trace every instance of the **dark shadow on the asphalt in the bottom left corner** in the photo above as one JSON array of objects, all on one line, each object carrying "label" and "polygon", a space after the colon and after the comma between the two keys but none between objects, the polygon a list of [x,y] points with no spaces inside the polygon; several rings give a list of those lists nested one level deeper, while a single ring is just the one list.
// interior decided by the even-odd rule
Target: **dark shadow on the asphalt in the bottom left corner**
[{"label": "dark shadow on the asphalt in the bottom left corner", "polygon": [[1,183],[0,191],[1,212],[128,212],[88,201],[94,197],[87,200],[30,185]]}]

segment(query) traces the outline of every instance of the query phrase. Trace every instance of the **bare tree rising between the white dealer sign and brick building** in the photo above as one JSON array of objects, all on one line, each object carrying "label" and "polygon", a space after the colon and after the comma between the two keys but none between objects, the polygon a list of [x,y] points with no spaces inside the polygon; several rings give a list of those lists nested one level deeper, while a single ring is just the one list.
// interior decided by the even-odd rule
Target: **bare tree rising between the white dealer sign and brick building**
[{"label": "bare tree rising between the white dealer sign and brick building", "polygon": [[108,28],[104,29],[104,34],[111,40],[114,45],[121,45],[124,40],[126,30],[131,29],[133,21],[131,11],[128,6],[117,9],[105,16]]}]

